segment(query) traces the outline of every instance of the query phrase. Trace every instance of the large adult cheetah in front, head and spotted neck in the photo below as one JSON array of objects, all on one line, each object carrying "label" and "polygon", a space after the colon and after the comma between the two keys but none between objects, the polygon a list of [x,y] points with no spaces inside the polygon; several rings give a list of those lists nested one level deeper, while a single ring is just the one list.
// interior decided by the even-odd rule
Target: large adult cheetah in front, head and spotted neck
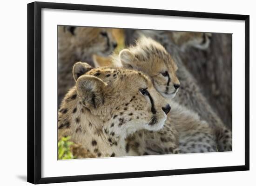
[{"label": "large adult cheetah in front, head and spotted neck", "polygon": [[73,75],[76,85],[59,110],[59,138],[70,135],[97,157],[126,156],[127,136],[163,127],[170,106],[141,72],[78,62]]}]

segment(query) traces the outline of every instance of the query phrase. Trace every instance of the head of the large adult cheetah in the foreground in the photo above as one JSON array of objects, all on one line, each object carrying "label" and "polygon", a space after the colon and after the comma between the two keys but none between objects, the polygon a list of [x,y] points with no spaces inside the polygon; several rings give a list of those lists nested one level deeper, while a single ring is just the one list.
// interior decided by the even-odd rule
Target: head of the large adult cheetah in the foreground
[{"label": "head of the large adult cheetah in the foreground", "polygon": [[106,133],[122,137],[140,129],[163,127],[170,106],[139,71],[101,67],[78,62],[73,68],[82,106]]}]

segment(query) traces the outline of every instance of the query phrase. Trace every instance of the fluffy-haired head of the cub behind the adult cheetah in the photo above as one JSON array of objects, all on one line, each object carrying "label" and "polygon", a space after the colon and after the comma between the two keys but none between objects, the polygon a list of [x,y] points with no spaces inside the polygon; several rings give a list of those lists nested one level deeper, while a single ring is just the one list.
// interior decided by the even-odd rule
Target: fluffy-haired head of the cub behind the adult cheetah
[{"label": "fluffy-haired head of the cub behind the adult cheetah", "polygon": [[119,58],[126,68],[148,74],[156,90],[166,98],[173,98],[180,87],[177,66],[162,45],[151,38],[142,37],[136,45],[120,52]]}]

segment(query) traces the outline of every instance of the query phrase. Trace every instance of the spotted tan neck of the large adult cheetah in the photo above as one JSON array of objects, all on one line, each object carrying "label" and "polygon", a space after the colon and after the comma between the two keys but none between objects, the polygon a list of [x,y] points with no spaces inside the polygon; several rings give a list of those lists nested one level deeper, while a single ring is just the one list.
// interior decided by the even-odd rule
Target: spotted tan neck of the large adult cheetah
[{"label": "spotted tan neck of the large adult cheetah", "polygon": [[[74,94],[74,93],[73,93]],[[71,95],[73,95],[71,94]],[[75,95],[75,94],[74,94]],[[84,108],[79,98],[68,101],[65,97],[61,109],[68,108],[66,114],[59,112],[59,133],[66,131],[71,140],[80,143],[97,157],[125,156],[125,137],[110,130],[108,123],[101,121],[100,116],[94,116]],[[61,123],[69,121],[69,125],[60,128]]]}]

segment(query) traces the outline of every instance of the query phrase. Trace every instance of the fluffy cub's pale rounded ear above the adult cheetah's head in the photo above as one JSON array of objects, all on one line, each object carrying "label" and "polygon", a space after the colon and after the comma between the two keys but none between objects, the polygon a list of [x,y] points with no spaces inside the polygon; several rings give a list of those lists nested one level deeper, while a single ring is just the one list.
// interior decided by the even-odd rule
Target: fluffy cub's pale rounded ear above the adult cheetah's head
[{"label": "fluffy cub's pale rounded ear above the adult cheetah's head", "polygon": [[136,58],[135,55],[128,49],[121,50],[119,54],[121,64],[125,68],[136,69]]}]

